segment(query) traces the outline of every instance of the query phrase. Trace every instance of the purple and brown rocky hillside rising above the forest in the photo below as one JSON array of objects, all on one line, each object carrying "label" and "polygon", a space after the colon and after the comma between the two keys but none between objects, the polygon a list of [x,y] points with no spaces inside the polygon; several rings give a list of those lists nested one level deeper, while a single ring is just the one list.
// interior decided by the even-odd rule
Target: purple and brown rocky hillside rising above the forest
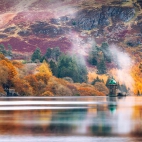
[{"label": "purple and brown rocky hillside rising above the forest", "polygon": [[1,0],[0,13],[0,43],[15,59],[29,59],[36,47],[86,57],[92,44],[108,42],[142,61],[141,0]]}]

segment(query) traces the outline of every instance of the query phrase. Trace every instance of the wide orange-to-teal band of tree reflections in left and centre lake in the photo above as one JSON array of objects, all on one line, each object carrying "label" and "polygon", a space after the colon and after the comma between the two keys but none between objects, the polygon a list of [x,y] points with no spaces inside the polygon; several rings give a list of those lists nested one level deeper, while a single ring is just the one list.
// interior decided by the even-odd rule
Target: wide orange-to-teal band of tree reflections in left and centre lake
[{"label": "wide orange-to-teal band of tree reflections in left and centre lake", "polygon": [[87,110],[1,111],[0,133],[68,133],[76,128],[75,121],[85,119]]}]

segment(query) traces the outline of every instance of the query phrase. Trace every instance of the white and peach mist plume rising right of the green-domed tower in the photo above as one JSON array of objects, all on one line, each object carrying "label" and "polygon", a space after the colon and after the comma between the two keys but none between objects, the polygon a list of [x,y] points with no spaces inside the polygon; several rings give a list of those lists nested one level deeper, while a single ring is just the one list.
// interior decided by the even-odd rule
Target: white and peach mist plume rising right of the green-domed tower
[{"label": "white and peach mist plume rising right of the green-domed tower", "polygon": [[118,68],[112,69],[110,72],[116,78],[120,84],[125,84],[131,91],[134,90],[134,80],[131,76],[131,69],[134,65],[134,61],[131,59],[128,53],[120,51],[120,48],[116,45],[110,45],[110,51],[113,56],[113,62],[115,62]]}]

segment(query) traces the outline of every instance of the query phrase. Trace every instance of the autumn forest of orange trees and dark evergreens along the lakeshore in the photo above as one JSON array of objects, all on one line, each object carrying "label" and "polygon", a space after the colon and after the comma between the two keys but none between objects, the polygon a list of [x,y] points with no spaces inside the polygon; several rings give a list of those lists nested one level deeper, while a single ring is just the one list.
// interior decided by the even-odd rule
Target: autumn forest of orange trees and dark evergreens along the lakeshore
[{"label": "autumn forest of orange trees and dark evergreens along the lakeshore", "polygon": [[[104,96],[109,93],[107,83],[112,77],[107,73],[113,70],[112,75],[115,77],[115,71],[120,68],[117,63],[115,69],[107,67],[107,63],[114,61],[105,42],[101,47],[93,45],[86,60],[76,54],[63,53],[59,47],[47,48],[44,55],[37,47],[30,61],[11,59],[13,55],[10,45],[5,48],[1,44],[0,52],[1,95],[6,95],[4,89],[8,86],[15,90],[15,95],[20,96]],[[97,72],[90,73],[88,66],[96,68]],[[140,75],[141,64],[132,71],[136,81],[136,95],[142,91]],[[131,88],[119,81],[118,89],[125,93],[131,91]]]}]

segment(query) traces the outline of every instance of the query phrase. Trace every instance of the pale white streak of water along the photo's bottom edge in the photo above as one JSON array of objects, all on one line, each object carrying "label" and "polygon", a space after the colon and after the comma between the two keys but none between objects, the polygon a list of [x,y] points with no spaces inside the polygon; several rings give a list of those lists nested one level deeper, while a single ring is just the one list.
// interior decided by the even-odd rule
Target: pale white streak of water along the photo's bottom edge
[{"label": "pale white streak of water along the photo's bottom edge", "polygon": [[0,136],[1,142],[140,142],[142,138],[86,136]]}]

